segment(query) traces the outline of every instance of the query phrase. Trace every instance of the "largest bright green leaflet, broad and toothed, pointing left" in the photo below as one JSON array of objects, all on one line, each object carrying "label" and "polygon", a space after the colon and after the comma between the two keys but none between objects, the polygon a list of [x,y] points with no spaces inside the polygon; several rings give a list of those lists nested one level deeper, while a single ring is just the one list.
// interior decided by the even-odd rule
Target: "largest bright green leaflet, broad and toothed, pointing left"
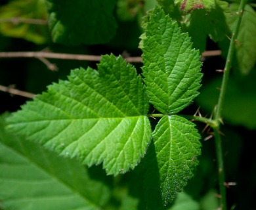
[{"label": "largest bright green leaflet, broad and toothed, pointing left", "polygon": [[135,68],[103,56],[98,72],[74,70],[9,118],[9,129],[108,174],[133,169],[144,156],[151,128],[148,98]]}]

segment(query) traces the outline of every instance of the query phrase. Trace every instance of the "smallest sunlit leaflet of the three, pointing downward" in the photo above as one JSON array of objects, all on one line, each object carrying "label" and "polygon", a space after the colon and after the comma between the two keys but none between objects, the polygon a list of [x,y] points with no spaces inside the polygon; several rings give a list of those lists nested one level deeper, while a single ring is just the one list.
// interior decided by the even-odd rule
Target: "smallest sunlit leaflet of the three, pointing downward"
[{"label": "smallest sunlit leaflet of the three, pointing downward", "polygon": [[[159,173],[156,179],[159,181],[148,177],[145,187],[152,187],[150,182],[159,182],[163,205],[170,203],[192,177],[192,171],[198,164],[196,158],[200,155],[199,139],[194,123],[180,116],[164,116],[156,125],[153,140]],[[150,170],[147,176],[152,174]],[[152,193],[148,190],[148,194]]]}]

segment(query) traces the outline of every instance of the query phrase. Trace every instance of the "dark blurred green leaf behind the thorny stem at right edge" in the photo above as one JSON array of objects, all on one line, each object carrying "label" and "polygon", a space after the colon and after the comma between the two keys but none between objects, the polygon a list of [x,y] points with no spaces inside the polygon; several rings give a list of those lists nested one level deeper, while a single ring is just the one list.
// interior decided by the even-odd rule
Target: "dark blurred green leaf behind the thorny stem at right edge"
[{"label": "dark blurred green leaf behind the thorny stem at right edge", "polygon": [[[248,129],[256,128],[256,85],[255,71],[241,81],[230,77],[224,97],[223,119],[233,125],[243,125]],[[203,85],[200,96],[196,99],[203,110],[211,113],[219,97],[218,87],[221,78]]]}]

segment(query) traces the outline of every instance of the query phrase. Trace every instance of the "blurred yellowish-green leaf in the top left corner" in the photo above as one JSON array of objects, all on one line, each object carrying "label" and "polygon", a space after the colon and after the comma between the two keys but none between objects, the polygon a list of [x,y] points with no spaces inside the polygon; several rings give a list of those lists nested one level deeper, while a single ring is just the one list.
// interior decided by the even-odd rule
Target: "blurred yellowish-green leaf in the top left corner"
[{"label": "blurred yellowish-green leaf in the top left corner", "polygon": [[[11,20],[12,19],[12,20]],[[32,24],[33,19],[44,24]],[[44,0],[15,0],[0,7],[0,33],[43,44],[49,41],[47,11]]]}]

